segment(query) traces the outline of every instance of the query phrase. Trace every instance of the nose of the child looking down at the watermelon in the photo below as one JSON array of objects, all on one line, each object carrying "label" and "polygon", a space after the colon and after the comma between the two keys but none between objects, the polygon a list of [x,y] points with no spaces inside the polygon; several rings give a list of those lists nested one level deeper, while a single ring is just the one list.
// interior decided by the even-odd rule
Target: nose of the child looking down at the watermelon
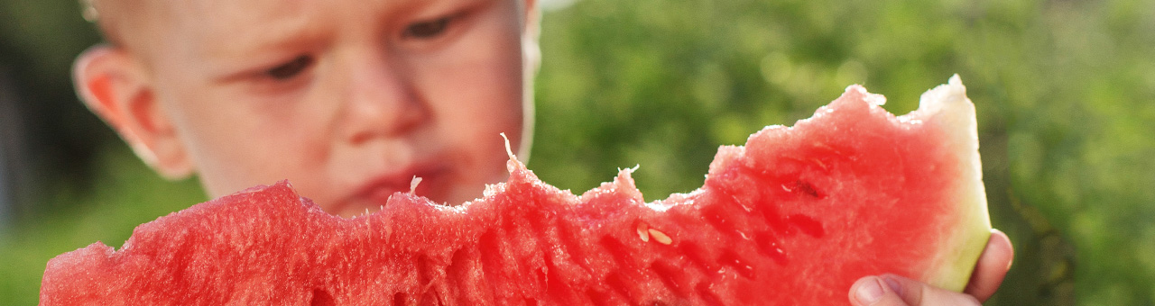
[{"label": "nose of the child looking down at the watermelon", "polygon": [[352,70],[344,116],[350,141],[396,137],[429,121],[427,101],[404,67],[381,61],[355,66]]}]

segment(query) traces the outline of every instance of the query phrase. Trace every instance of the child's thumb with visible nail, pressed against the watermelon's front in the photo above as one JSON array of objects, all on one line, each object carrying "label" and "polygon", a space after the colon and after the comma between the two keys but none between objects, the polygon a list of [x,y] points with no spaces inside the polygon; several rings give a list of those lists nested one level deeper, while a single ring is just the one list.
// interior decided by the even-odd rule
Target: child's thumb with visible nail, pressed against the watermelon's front
[{"label": "child's thumb with visible nail, pressed against the watermelon's front", "polygon": [[858,278],[850,286],[850,303],[858,306],[977,306],[975,297],[886,274]]}]

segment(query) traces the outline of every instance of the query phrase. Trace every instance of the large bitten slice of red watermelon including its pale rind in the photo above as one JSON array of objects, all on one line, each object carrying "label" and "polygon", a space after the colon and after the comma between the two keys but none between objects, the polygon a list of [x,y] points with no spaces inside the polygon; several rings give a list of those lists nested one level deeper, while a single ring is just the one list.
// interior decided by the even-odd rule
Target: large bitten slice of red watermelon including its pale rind
[{"label": "large bitten slice of red watermelon including its pale rind", "polygon": [[974,106],[957,77],[908,115],[882,101],[850,86],[654,202],[629,169],[575,196],[512,156],[453,207],[396,193],[343,219],[253,188],[52,259],[40,305],[844,305],[882,273],[961,290],[990,228]]}]

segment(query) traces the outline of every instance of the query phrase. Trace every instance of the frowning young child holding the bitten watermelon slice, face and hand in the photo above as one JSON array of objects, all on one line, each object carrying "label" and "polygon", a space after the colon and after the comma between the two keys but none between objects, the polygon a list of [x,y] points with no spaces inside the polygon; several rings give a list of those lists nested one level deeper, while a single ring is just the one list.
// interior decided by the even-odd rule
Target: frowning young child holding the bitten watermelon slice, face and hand
[{"label": "frowning young child holding the bitten watermelon slice, face and hand", "polygon": [[[327,212],[349,216],[377,209],[417,176],[419,194],[456,204],[505,178],[500,132],[522,155],[529,148],[534,0],[92,7],[110,44],[77,59],[81,98],[157,173],[196,174],[210,197],[289,179]],[[1004,251],[996,258],[1009,262],[1008,243]],[[983,267],[979,299],[1005,274]],[[856,289],[870,294],[851,300],[894,301],[887,297],[926,288],[895,280],[863,278]],[[941,294],[924,293],[922,303],[968,297],[927,290]]]}]

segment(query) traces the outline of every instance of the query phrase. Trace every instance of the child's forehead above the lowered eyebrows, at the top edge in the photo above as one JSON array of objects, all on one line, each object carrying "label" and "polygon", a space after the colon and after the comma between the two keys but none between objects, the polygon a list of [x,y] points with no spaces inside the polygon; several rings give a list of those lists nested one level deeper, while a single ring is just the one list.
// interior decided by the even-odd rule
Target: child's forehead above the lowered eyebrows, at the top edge
[{"label": "child's forehead above the lowered eyebrows, at the top edge", "polygon": [[[97,0],[102,1],[102,0]],[[107,1],[107,0],[104,0]],[[139,0],[113,0],[139,1]],[[166,0],[142,24],[141,53],[165,67],[195,66],[210,75],[268,64],[338,41],[368,41],[395,22],[437,17],[467,7],[517,0]],[[158,2],[163,2],[158,3]],[[511,6],[513,7],[513,6]],[[295,53],[295,54],[289,54]],[[193,64],[196,63],[196,64]]]}]

